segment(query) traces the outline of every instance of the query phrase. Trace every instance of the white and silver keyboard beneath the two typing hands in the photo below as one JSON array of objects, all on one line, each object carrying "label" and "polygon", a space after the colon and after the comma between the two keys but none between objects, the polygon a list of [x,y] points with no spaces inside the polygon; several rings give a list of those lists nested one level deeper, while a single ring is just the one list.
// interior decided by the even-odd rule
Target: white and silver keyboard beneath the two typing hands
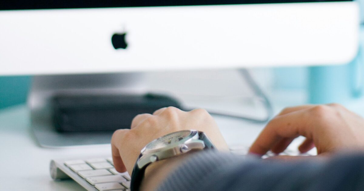
[{"label": "white and silver keyboard beneath the two typing hands", "polygon": [[[230,151],[237,155],[246,155],[248,150],[247,146],[230,147]],[[316,151],[301,154],[297,150],[286,149],[279,155],[309,156],[315,155],[314,152]],[[276,154],[269,151],[262,158],[271,156],[276,156]],[[52,160],[50,173],[54,180],[74,179],[88,191],[130,191],[128,172],[117,172],[110,157]]]}]

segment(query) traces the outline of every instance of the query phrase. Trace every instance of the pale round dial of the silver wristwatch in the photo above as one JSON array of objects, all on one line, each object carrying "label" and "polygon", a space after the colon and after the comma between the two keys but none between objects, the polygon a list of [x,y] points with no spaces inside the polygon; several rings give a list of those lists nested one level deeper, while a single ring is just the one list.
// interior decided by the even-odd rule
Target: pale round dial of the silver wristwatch
[{"label": "pale round dial of the silver wristwatch", "polygon": [[195,133],[190,130],[185,131],[177,131],[161,138],[155,139],[153,142],[147,144],[146,149],[148,150],[156,150],[164,147],[175,146],[180,143],[183,143],[185,139],[189,139]]}]

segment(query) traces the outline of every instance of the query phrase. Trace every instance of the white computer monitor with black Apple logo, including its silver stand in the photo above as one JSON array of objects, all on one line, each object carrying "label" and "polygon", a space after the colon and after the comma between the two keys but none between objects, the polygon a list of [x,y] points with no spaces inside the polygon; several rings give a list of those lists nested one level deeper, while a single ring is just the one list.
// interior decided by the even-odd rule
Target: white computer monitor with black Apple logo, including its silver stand
[{"label": "white computer monitor with black Apple logo, including its silver stand", "polygon": [[7,1],[0,75],[35,76],[28,104],[42,146],[107,143],[110,134],[56,134],[51,96],[138,91],[125,72],[344,64],[358,34],[351,0]]}]

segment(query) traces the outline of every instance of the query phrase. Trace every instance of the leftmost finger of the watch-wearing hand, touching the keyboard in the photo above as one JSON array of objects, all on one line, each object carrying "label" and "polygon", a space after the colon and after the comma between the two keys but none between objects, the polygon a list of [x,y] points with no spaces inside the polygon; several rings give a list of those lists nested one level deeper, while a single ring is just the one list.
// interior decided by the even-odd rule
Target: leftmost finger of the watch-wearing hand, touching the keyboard
[{"label": "leftmost finger of the watch-wearing hand, touching the keyboard", "polygon": [[128,129],[117,130],[114,132],[111,138],[111,152],[112,152],[112,162],[114,167],[118,172],[125,172],[126,167],[124,165],[123,159],[120,156],[118,146],[119,142],[122,140],[123,135],[129,131]]}]

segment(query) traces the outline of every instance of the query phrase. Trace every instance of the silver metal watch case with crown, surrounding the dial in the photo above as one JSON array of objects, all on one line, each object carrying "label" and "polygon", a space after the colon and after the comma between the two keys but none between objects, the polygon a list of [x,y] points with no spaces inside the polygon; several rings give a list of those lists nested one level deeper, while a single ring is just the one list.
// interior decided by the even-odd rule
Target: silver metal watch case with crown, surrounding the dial
[{"label": "silver metal watch case with crown, surrounding the dial", "polygon": [[[196,130],[182,130],[182,131],[190,131],[191,134],[187,136],[185,139],[182,139],[181,142],[178,142],[178,144],[173,144],[171,146],[166,146],[158,149],[147,149],[147,146],[150,143],[153,143],[154,141],[160,138],[155,139],[150,143],[148,143],[147,146],[145,146],[141,151],[142,156],[138,159],[137,162],[138,167],[143,168],[145,165],[153,163],[157,160],[167,159],[173,156],[181,155],[193,149],[202,150],[203,148],[205,148],[205,143],[202,140],[199,140],[199,131]],[[181,131],[173,132],[168,135],[175,134],[178,132]],[[164,136],[162,136],[161,138],[163,138]]]}]

